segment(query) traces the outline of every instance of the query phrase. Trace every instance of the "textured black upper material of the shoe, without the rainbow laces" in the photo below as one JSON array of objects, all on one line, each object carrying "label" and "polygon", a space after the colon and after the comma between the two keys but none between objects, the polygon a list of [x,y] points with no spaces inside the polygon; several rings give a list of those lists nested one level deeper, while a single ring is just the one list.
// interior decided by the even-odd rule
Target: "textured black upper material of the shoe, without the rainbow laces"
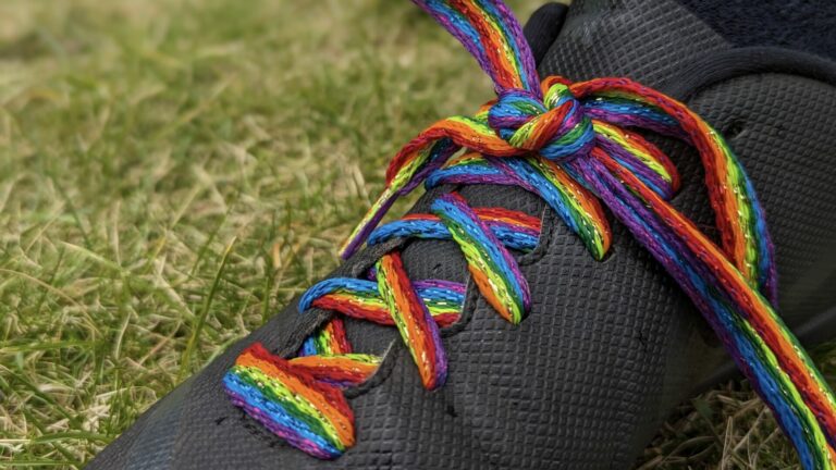
[{"label": "textured black upper material of the shoe, without the rainbow laces", "polygon": [[[668,86],[697,57],[733,46],[672,0],[576,0],[540,69],[573,79],[626,75]],[[789,74],[742,75],[689,104],[724,132],[752,176],[777,246],[780,312],[798,325],[836,307],[836,88]],[[685,182],[675,203],[711,231],[699,159],[656,139]],[[426,207],[439,188],[418,202]],[[671,408],[726,357],[666,273],[614,224],[613,253],[594,261],[536,197],[467,187],[474,206],[544,219],[540,246],[520,258],[533,300],[518,326],[474,288],[463,320],[444,332],[447,384],[427,392],[396,334],[351,322],[357,350],[389,350],[352,393],[357,445],[320,461],[285,445],[232,406],[221,378],[255,341],[288,354],[328,312],[292,304],[149,409],[90,469],[625,469]],[[359,273],[380,250],[337,270]],[[450,243],[411,242],[415,279],[466,280]]]}]

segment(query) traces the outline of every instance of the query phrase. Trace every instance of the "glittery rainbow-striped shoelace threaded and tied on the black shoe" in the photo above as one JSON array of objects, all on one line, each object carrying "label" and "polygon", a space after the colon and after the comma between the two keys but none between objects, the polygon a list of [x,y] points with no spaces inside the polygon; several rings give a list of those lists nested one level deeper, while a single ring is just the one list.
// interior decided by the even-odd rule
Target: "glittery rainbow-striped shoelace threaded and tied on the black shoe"
[{"label": "glittery rainbow-striped shoelace threaded and tied on the black shoe", "polygon": [[[429,213],[378,226],[386,210],[421,183],[513,185],[541,197],[601,259],[611,242],[606,207],[702,312],[803,467],[833,468],[833,394],[775,313],[777,275],[763,210],[721,135],[683,103],[627,78],[541,82],[520,26],[501,0],[414,1],[477,59],[497,98],[472,116],[437,122],[397,153],[383,194],[343,256],[393,238],[453,240],[479,293],[516,324],[531,297],[514,253],[536,247],[538,218],[474,208],[455,191],[435,199]],[[676,169],[630,129],[676,137],[699,151],[721,246],[668,203],[679,185]],[[393,249],[365,279],[334,277],[308,289],[298,310],[329,310],[332,319],[293,358],[251,345],[224,376],[225,389],[291,445],[336,458],[355,443],[344,389],[365,382],[382,360],[352,350],[341,317],[397,327],[423,386],[433,389],[447,374],[440,329],[458,320],[465,290],[460,283],[410,280]]]}]

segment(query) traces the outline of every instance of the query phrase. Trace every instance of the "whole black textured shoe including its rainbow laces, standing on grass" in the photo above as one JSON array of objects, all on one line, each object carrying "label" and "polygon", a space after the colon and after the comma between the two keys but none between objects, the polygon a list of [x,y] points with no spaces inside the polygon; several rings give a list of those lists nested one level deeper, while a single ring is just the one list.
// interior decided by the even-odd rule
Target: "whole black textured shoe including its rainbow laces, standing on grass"
[{"label": "whole black textured shoe including its rainbow laces, standing on grass", "polygon": [[[348,244],[366,248],[88,468],[626,469],[732,358],[800,461],[828,468],[829,391],[769,312],[778,299],[804,344],[836,336],[836,7],[795,4],[791,27],[777,1],[575,0],[534,14],[529,51],[490,30],[507,17],[493,1],[416,2],[499,102],[410,143],[389,175],[391,197],[426,181],[409,214],[372,232],[381,199]],[[541,89],[529,58],[575,82]],[[580,83],[601,76],[631,81]],[[724,135],[758,199],[704,165],[717,133],[636,83]]]}]

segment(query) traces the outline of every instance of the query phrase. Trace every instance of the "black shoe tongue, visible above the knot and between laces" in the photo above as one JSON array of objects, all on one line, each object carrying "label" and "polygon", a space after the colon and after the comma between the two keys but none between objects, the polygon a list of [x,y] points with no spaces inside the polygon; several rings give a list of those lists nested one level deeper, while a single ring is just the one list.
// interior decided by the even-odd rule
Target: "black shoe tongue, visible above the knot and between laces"
[{"label": "black shoe tongue, visible above the knot and between laces", "polygon": [[[560,22],[553,27],[560,28]],[[532,29],[526,33],[531,35]],[[529,40],[546,36],[537,34]],[[672,0],[576,0],[557,39],[545,48],[548,53],[539,71],[542,77],[563,75],[580,81],[627,76],[659,86],[668,83],[693,58],[729,47],[699,17]],[[501,207],[534,217],[542,215],[546,208],[539,197],[516,187],[475,185],[458,191],[475,208]],[[425,195],[409,212],[429,212],[437,196]],[[565,243],[582,247],[568,231],[560,234]],[[402,258],[415,281],[439,279],[467,284],[469,280],[467,263],[453,242],[414,239],[402,248]],[[401,341],[394,327],[356,320],[346,321],[346,333],[355,350],[370,354],[383,354],[392,342]]]}]

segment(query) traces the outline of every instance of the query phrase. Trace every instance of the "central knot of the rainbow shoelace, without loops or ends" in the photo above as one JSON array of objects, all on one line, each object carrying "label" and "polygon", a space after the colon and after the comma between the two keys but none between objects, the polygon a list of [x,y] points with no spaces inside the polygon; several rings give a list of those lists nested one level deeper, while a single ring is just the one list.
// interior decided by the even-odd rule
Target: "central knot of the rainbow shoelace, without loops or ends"
[{"label": "central knot of the rainbow shoelace, without loops or ends", "polygon": [[501,91],[488,110],[488,125],[512,147],[550,160],[588,154],[594,147],[592,121],[560,77],[543,81],[542,98],[525,89]]}]

